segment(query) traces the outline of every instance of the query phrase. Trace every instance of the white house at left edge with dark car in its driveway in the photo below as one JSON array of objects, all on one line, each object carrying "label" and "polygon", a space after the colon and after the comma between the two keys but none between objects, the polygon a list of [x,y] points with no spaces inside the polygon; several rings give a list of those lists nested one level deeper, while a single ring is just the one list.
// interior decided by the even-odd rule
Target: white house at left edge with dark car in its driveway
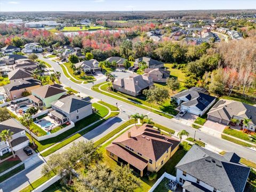
[{"label": "white house at left edge with dark car in its driveway", "polygon": [[[25,127],[19,123],[16,119],[10,118],[0,123],[0,132],[3,130],[10,130],[13,132],[11,145],[14,151],[18,151],[28,146],[29,138],[26,136]],[[8,142],[0,141],[0,156],[11,152],[11,148]]]}]

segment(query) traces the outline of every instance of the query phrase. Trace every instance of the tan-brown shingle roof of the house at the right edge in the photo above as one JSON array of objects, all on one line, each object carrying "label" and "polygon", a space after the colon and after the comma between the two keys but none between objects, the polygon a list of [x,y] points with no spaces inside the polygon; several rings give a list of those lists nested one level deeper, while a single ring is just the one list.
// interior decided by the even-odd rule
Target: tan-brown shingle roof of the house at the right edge
[{"label": "tan-brown shingle roof of the house at the right edge", "polygon": [[233,100],[219,100],[207,113],[214,117],[230,120],[233,116],[249,118],[256,125],[256,107]]}]

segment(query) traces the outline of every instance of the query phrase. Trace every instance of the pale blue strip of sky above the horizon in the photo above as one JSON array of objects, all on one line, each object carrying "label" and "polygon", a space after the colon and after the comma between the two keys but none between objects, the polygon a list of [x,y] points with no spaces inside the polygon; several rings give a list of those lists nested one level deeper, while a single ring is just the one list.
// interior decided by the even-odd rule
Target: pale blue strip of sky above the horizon
[{"label": "pale blue strip of sky above the horizon", "polygon": [[256,9],[256,0],[0,0],[0,11]]}]

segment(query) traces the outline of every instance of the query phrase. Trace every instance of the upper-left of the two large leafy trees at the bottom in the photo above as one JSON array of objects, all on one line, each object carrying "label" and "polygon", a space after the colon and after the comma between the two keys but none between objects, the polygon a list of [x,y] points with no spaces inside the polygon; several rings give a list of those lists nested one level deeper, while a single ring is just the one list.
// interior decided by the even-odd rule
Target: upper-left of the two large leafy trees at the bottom
[{"label": "upper-left of the two large leafy trees at the bottom", "polygon": [[73,177],[77,177],[76,170],[88,169],[91,164],[101,159],[102,154],[92,141],[79,141],[61,154],[52,154],[43,166],[42,173],[49,175],[54,170],[60,175],[62,183],[71,183]]}]

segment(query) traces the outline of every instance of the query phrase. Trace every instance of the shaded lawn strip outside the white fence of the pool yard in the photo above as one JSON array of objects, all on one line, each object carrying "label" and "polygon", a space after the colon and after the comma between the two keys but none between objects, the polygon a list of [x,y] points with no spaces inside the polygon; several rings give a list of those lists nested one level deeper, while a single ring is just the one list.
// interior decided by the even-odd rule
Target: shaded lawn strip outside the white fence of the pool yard
[{"label": "shaded lawn strip outside the white fence of the pool yard", "polygon": [[[76,122],[75,127],[73,127],[72,129],[59,134],[57,137],[45,139],[43,141],[37,141],[34,139],[34,141],[37,145],[36,152],[40,152],[40,151],[54,145],[56,142],[66,139],[71,134],[83,129],[85,126],[90,125],[91,123],[93,123],[95,121],[98,121],[99,119],[105,117],[108,114],[108,109],[106,107],[103,107],[103,106],[99,105],[98,103],[93,103],[92,106],[98,110],[97,113],[93,113],[90,116]],[[30,135],[27,134],[27,136],[30,138],[30,141],[31,141]]]}]

